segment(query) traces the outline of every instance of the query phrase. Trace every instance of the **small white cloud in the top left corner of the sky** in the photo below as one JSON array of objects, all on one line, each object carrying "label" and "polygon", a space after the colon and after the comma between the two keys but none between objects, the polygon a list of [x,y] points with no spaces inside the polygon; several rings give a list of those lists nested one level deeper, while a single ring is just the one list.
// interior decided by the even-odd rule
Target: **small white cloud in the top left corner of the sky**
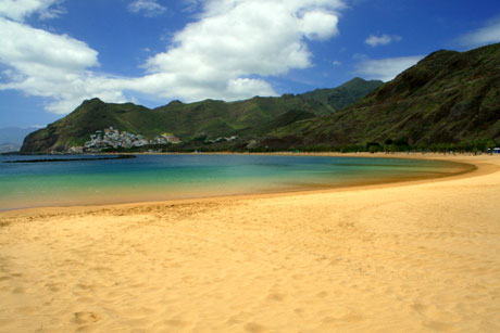
[{"label": "small white cloud in the top left corner of the sky", "polygon": [[38,12],[40,18],[52,18],[63,13],[61,8],[50,9],[60,2],[62,0],[1,0],[0,16],[22,22]]}]

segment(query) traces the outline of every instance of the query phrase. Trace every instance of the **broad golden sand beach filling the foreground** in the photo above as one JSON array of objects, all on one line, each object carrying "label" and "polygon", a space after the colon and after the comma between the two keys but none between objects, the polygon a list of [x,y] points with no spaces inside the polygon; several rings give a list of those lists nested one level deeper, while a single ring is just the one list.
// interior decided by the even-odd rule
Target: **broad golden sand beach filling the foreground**
[{"label": "broad golden sand beach filling the foreground", "polygon": [[347,189],[0,213],[0,332],[499,332],[500,156]]}]

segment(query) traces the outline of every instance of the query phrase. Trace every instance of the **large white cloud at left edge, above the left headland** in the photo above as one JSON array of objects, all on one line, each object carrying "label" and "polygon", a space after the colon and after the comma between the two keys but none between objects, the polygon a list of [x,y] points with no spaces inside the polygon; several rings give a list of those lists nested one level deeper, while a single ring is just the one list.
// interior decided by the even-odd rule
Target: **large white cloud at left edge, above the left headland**
[{"label": "large white cloud at left edge, above the left headland", "polygon": [[2,73],[5,79],[0,90],[16,89],[50,98],[46,110],[59,114],[93,95],[125,101],[120,90],[99,88],[97,76],[88,71],[99,66],[98,52],[82,41],[2,17],[0,40],[0,63],[11,67]]}]

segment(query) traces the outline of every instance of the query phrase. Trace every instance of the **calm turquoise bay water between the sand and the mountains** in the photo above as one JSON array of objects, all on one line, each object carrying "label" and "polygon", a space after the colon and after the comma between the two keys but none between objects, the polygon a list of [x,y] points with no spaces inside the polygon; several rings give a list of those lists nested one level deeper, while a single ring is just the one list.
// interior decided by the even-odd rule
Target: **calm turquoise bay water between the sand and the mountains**
[{"label": "calm turquoise bay water between the sand and the mountains", "polygon": [[435,161],[268,155],[3,163],[34,158],[54,157],[0,156],[0,210],[326,189],[435,177],[455,167]]}]

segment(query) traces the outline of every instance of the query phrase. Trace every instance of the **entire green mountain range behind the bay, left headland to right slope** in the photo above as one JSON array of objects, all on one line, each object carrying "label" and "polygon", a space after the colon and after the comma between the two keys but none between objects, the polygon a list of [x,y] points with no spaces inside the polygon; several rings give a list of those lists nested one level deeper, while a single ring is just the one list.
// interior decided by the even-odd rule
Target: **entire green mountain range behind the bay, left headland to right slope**
[{"label": "entire green mountain range behind the bay, left headland to right slope", "polygon": [[[485,150],[500,145],[500,43],[438,50],[383,85],[354,78],[297,95],[154,110],[93,99],[26,137],[22,151],[64,151],[108,126],[174,133],[184,143],[173,151]],[[238,140],[217,143],[228,136]]]}]

